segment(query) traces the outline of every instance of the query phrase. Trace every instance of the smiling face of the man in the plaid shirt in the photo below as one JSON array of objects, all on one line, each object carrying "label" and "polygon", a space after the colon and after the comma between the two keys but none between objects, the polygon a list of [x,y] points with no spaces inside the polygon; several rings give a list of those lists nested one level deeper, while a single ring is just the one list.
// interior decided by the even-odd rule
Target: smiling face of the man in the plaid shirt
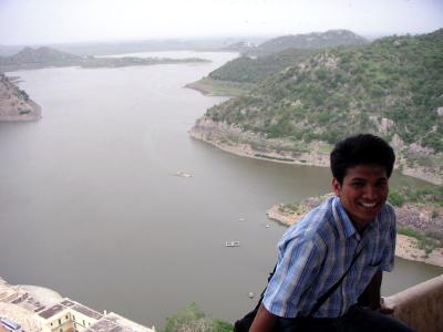
[{"label": "smiling face of the man in the plaid shirt", "polygon": [[348,168],[343,183],[333,178],[332,187],[358,231],[375,219],[389,193],[387,170],[379,165]]}]

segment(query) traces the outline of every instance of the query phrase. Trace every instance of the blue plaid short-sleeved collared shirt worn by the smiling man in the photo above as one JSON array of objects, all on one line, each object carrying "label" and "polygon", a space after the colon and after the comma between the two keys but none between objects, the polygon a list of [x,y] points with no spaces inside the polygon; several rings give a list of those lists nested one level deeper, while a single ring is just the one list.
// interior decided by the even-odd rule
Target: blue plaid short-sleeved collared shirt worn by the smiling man
[{"label": "blue plaid short-sleeved collared shirt worn by the smiling man", "polygon": [[278,264],[262,304],[279,317],[308,315],[347,271],[337,290],[312,314],[337,318],[357,303],[377,271],[394,264],[395,215],[385,204],[363,235],[359,235],[338,197],[331,197],[292,225],[278,243]]}]

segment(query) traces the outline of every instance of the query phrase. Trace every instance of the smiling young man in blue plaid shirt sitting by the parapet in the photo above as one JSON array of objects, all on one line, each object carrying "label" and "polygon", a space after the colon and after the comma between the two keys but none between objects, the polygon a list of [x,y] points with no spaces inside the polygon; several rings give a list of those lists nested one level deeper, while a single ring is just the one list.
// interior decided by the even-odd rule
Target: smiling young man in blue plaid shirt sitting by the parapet
[{"label": "smiling young man in blue plaid shirt sitting by the parapet", "polygon": [[336,196],[280,240],[277,268],[250,331],[286,331],[285,322],[290,331],[412,331],[382,313],[380,298],[382,271],[394,263],[395,215],[385,204],[394,160],[393,149],[373,135],[336,145],[330,160]]}]

